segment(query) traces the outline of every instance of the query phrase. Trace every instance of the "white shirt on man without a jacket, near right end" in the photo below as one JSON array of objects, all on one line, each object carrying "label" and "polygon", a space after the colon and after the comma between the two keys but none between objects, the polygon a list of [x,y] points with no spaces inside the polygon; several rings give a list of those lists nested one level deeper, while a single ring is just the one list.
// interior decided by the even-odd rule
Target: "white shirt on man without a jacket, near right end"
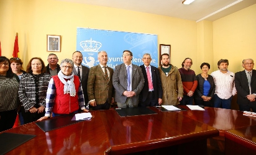
[{"label": "white shirt on man without a jacket, near right end", "polygon": [[235,74],[231,71],[222,73],[220,70],[211,73],[215,83],[215,94],[221,99],[229,99],[232,95],[237,94],[235,89]]}]

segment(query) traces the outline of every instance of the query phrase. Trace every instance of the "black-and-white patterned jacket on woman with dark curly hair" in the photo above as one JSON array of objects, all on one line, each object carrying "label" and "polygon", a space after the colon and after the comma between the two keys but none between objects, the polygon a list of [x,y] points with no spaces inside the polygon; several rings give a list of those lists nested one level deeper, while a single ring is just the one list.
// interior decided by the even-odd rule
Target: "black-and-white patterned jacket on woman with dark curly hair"
[{"label": "black-and-white patterned jacket on woman with dark curly hair", "polygon": [[[38,87],[36,87],[35,79],[32,74],[24,74],[24,76],[22,76],[19,84],[19,99],[25,108],[25,112],[34,107],[36,104],[39,106],[43,105],[45,107],[45,97],[51,78],[52,76],[50,76],[50,74],[40,74],[37,82]],[[36,102],[37,99],[38,103]]]}]

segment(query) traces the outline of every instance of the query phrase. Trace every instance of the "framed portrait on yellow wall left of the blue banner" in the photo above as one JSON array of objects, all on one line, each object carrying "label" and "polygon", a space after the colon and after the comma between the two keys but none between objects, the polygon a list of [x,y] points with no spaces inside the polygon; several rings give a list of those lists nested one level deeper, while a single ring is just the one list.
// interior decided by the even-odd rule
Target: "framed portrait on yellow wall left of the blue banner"
[{"label": "framed portrait on yellow wall left of the blue banner", "polygon": [[60,51],[60,35],[47,35],[47,51]]}]

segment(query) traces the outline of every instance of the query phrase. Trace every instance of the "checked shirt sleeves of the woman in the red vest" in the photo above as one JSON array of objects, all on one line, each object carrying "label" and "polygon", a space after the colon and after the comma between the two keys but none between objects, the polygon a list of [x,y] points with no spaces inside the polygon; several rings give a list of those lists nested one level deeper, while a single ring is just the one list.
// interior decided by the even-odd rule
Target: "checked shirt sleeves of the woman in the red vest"
[{"label": "checked shirt sleeves of the woman in the red vest", "polygon": [[[55,99],[55,93],[56,93],[56,87],[55,82],[52,79],[50,79],[48,89],[47,89],[47,95],[46,95],[46,108],[45,108],[45,116],[50,117],[50,114],[52,112],[54,99]],[[83,97],[83,89],[81,87],[81,83],[78,89],[78,102],[80,104],[81,110],[85,109],[85,99]]]}]

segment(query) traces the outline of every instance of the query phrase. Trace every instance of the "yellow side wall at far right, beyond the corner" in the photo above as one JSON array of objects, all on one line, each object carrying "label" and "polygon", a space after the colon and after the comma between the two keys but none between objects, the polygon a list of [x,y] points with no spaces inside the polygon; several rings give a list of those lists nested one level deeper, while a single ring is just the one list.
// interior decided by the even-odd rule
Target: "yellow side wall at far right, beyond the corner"
[{"label": "yellow side wall at far right, beyond the corner", "polygon": [[232,72],[242,71],[242,60],[256,63],[256,4],[213,22],[214,70],[217,61],[229,60]]}]

